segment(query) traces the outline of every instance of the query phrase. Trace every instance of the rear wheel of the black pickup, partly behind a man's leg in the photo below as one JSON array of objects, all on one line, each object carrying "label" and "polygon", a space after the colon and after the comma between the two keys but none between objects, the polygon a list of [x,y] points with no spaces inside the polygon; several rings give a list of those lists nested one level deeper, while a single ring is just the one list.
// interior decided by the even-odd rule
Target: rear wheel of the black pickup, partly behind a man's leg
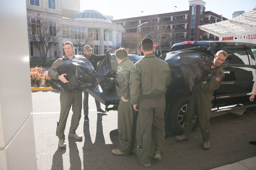
[{"label": "rear wheel of the black pickup, partly behind a man's leg", "polygon": [[[167,127],[176,134],[182,134],[185,125],[185,115],[187,106],[190,100],[190,95],[179,96],[169,103],[169,111],[167,117]],[[195,116],[192,131],[197,128],[199,124],[198,116]]]}]

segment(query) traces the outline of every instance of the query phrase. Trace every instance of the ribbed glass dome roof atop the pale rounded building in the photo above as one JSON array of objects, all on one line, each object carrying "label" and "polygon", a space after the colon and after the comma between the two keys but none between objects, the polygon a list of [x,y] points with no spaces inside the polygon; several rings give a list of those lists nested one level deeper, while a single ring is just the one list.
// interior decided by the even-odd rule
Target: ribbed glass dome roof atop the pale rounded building
[{"label": "ribbed glass dome roof atop the pale rounded building", "polygon": [[96,10],[83,10],[81,12],[78,12],[73,19],[103,19],[110,21],[107,17],[105,17],[103,14]]}]

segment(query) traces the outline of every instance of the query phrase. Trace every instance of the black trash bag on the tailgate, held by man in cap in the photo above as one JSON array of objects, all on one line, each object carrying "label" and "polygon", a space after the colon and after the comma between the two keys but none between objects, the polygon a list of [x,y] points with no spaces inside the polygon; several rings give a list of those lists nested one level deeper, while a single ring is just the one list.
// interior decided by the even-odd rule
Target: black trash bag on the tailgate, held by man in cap
[{"label": "black trash bag on the tailgate, held by man in cap", "polygon": [[108,52],[106,53],[106,57],[98,64],[96,68],[96,78],[104,93],[115,90],[118,66],[118,62],[113,59]]}]

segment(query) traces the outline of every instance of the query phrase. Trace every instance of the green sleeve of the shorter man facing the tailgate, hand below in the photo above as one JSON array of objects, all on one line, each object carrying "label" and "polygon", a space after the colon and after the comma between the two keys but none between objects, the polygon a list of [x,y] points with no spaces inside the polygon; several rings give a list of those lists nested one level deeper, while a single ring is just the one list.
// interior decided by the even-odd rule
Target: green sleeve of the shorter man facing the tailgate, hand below
[{"label": "green sleeve of the shorter man facing the tailgate, hand below", "polygon": [[122,96],[125,100],[130,98],[129,80],[130,72],[127,68],[123,68],[122,71],[118,72],[117,77],[119,87],[121,89]]}]

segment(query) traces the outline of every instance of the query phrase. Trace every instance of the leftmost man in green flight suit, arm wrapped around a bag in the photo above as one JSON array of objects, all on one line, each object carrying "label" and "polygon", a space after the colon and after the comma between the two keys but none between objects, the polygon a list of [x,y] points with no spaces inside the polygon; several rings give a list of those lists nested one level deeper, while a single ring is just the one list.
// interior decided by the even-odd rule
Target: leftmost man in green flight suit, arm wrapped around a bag
[{"label": "leftmost man in green flight suit, arm wrapped around a bag", "polygon": [[[73,58],[76,58],[73,55],[74,47],[71,42],[66,42],[63,45],[64,51],[65,51],[65,56],[58,58],[51,66],[51,68],[48,71],[48,76],[51,79],[54,80],[60,80],[63,83],[69,83],[69,81],[66,80],[64,75],[67,74],[59,74],[58,69],[60,66],[68,61],[72,60]],[[76,134],[76,129],[79,125],[79,121],[81,118],[81,112],[82,112],[82,91],[79,92],[65,92],[65,91],[60,91],[60,119],[59,119],[59,125],[57,125],[56,129],[56,136],[59,137],[59,147],[66,147],[65,143],[65,128],[66,128],[66,123],[68,119],[68,114],[70,111],[72,105],[72,117],[71,117],[71,125],[69,128],[69,134],[68,137],[75,138],[75,139],[82,139],[81,135]]]}]

